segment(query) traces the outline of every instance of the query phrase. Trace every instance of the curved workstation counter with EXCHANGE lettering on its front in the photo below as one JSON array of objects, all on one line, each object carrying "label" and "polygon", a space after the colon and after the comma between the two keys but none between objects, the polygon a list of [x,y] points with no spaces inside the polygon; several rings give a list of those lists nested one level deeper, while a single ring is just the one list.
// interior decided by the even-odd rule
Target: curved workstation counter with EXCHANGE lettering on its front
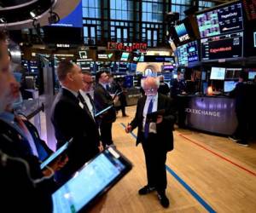
[{"label": "curved workstation counter with EXCHANGE lettering on its front", "polygon": [[232,135],[237,126],[235,99],[228,96],[178,95],[178,124],[213,134]]}]

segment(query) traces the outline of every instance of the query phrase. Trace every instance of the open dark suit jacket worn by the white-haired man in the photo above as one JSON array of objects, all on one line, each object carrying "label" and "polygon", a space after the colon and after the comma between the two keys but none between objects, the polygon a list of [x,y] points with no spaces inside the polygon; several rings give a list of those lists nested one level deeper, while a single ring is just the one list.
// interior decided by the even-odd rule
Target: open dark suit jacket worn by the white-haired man
[{"label": "open dark suit jacket worn by the white-haired man", "polygon": [[[143,141],[143,109],[145,106],[147,96],[143,96],[137,101],[137,111],[135,118],[131,121],[131,128],[134,130],[138,127],[137,131],[137,144]],[[166,95],[158,94],[157,110],[165,109],[166,112],[163,117],[163,122],[156,124],[156,131],[159,141],[157,146],[161,146],[167,151],[173,149],[173,124],[175,122],[175,111],[173,109],[172,99]]]}]

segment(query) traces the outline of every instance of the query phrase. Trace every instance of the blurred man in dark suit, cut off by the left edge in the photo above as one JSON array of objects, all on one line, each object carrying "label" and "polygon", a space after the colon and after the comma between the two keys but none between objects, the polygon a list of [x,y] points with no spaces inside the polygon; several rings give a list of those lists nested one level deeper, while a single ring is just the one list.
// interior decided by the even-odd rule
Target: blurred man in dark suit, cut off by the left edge
[{"label": "blurred man in dark suit, cut off by the left edge", "polygon": [[[18,87],[9,62],[6,37],[0,31],[0,114],[12,103],[12,89]],[[4,194],[1,210],[52,212],[51,178],[44,176],[27,143],[14,126],[0,118],[0,188]]]}]

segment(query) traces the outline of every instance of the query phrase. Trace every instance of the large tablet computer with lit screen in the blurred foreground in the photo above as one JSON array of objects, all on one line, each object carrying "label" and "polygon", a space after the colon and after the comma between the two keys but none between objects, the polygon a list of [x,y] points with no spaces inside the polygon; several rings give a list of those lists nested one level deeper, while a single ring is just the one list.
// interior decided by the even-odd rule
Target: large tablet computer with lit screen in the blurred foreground
[{"label": "large tablet computer with lit screen in the blurred foreground", "polygon": [[131,162],[123,154],[108,147],[52,194],[53,212],[84,212],[131,167]]}]

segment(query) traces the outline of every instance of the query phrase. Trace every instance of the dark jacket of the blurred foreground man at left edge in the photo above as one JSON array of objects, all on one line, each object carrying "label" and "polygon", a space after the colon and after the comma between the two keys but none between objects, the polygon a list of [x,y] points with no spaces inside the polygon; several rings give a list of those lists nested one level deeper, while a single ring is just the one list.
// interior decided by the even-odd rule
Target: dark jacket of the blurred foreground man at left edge
[{"label": "dark jacket of the blurred foreground man at left edge", "polygon": [[[20,164],[5,163],[1,167],[3,173],[0,176],[0,188],[5,195],[3,206],[7,206],[8,212],[35,212],[33,206],[37,206],[38,212],[52,212],[51,194],[56,185],[53,178],[44,179],[32,186],[32,180],[43,177],[38,158],[33,156],[27,147],[28,141],[12,126],[0,120],[0,151],[8,154],[11,158],[20,158]],[[22,165],[28,164],[28,168]],[[24,171],[25,170],[25,171]],[[32,179],[28,178],[29,175]],[[26,193],[24,190],[27,190]],[[30,204],[27,205],[30,201]],[[32,203],[31,203],[32,202]],[[2,206],[2,207],[3,207]],[[3,210],[5,207],[3,207]]]}]

